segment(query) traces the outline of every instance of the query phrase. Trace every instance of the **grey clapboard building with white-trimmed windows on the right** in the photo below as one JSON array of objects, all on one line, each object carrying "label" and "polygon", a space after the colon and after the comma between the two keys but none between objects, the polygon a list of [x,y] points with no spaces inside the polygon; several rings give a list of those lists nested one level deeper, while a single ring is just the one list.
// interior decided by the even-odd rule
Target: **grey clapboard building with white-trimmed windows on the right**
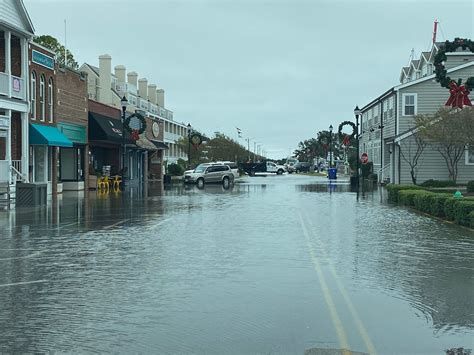
[{"label": "grey clapboard building with white-trimmed windows on the right", "polygon": [[[367,153],[379,181],[411,184],[410,167],[402,151],[413,149],[413,127],[416,114],[433,114],[449,97],[449,90],[435,81],[434,56],[442,46],[434,43],[429,52],[402,68],[400,84],[382,93],[365,105],[361,119],[360,150]],[[465,81],[474,76],[474,53],[446,53],[445,67],[453,78]],[[467,148],[459,162],[458,182],[474,177],[474,149]],[[449,173],[443,157],[432,146],[425,148],[417,167],[417,183],[428,179],[448,180]]]}]

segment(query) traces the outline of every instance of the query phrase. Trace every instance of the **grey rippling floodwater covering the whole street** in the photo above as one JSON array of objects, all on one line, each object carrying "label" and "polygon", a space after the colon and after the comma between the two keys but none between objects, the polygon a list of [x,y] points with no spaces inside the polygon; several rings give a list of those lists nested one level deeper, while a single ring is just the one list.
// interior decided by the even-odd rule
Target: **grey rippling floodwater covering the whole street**
[{"label": "grey rippling floodwater covering the whole street", "polygon": [[0,353],[473,349],[474,232],[384,198],[284,175],[1,212]]}]

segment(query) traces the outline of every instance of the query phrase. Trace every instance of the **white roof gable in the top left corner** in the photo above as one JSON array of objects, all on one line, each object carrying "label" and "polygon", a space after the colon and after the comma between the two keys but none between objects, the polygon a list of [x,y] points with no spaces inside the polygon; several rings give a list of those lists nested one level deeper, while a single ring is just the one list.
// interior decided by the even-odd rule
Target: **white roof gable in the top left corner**
[{"label": "white roof gable in the top left corner", "polygon": [[0,22],[6,27],[32,36],[35,32],[23,0],[0,0]]}]

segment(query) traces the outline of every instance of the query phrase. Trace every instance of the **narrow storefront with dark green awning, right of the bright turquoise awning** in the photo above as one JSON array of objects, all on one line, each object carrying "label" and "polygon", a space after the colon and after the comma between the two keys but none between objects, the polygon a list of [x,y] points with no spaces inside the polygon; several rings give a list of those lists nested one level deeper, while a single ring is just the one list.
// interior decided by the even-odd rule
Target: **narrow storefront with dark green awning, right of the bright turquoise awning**
[{"label": "narrow storefront with dark green awning, right of the bright turquoise awning", "polygon": [[71,148],[59,149],[58,180],[62,181],[65,191],[84,190],[87,176],[87,128],[72,123],[58,123],[57,127],[73,143]]}]

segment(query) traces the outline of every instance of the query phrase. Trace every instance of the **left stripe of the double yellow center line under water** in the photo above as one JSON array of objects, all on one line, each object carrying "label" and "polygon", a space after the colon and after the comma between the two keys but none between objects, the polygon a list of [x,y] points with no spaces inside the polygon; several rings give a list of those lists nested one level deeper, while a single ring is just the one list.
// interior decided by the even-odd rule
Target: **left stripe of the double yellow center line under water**
[{"label": "left stripe of the double yellow center line under water", "polygon": [[300,217],[301,228],[303,229],[303,233],[306,238],[306,244],[308,245],[311,261],[313,262],[314,269],[316,270],[316,273],[318,274],[319,284],[321,286],[321,290],[323,291],[324,300],[326,301],[326,305],[329,309],[329,313],[331,315],[331,321],[334,326],[334,329],[336,330],[337,338],[339,339],[339,344],[341,348],[343,349],[343,354],[344,355],[349,354],[349,352],[345,350],[345,349],[349,349],[349,343],[347,342],[346,331],[344,330],[341,319],[339,318],[339,315],[337,314],[336,305],[334,304],[334,300],[332,299],[331,292],[329,291],[329,287],[326,283],[326,279],[324,278],[324,274],[321,270],[321,265],[319,264],[318,258],[316,257],[314,253],[313,247],[311,246],[308,230],[306,229],[306,226],[304,224],[303,217],[301,216],[300,213],[298,214]]}]

